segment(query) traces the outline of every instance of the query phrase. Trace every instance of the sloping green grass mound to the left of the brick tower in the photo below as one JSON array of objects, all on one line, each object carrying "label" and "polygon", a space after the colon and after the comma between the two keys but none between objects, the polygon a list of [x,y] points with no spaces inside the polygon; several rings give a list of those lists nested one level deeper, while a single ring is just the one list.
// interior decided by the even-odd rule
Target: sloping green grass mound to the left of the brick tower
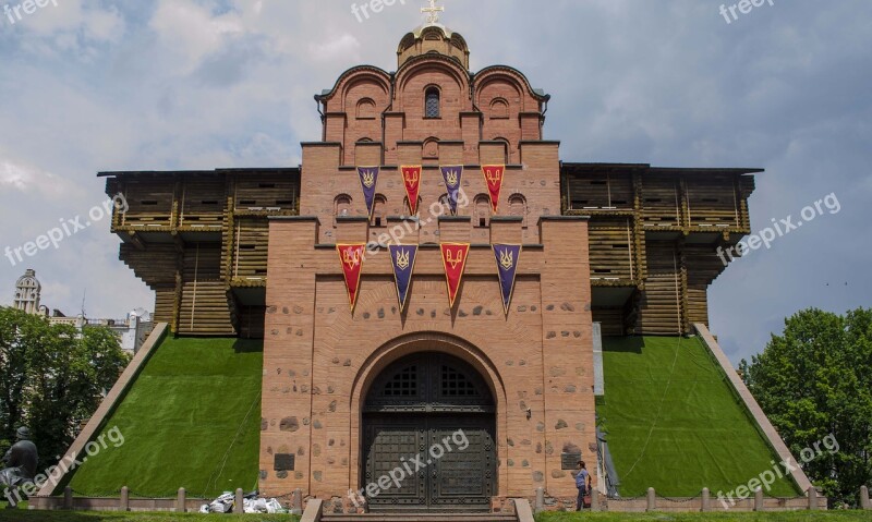
[{"label": "sloping green grass mound to the left of the brick tower", "polygon": [[70,486],[82,496],[128,486],[133,496],[170,498],[180,487],[206,497],[254,489],[262,372],[262,341],[165,340],[101,428],[107,448]]}]

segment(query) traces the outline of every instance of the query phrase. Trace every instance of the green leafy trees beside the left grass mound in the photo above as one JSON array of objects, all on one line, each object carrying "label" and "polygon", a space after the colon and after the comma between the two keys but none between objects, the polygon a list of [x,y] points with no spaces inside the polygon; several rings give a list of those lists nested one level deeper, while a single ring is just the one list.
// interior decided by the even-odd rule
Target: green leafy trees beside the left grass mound
[{"label": "green leafy trees beside the left grass mound", "polygon": [[40,468],[57,462],[129,362],[107,328],[51,325],[0,307],[0,439],[26,425]]}]

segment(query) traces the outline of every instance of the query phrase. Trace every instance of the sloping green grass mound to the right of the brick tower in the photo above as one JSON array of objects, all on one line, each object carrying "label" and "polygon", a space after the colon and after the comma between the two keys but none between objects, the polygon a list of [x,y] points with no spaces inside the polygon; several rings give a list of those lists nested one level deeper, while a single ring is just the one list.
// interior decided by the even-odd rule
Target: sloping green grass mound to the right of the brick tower
[{"label": "sloping green grass mound to the right of the brick tower", "polygon": [[[623,497],[725,494],[778,461],[699,339],[607,338],[597,413]],[[778,479],[770,497],[800,493]]]}]

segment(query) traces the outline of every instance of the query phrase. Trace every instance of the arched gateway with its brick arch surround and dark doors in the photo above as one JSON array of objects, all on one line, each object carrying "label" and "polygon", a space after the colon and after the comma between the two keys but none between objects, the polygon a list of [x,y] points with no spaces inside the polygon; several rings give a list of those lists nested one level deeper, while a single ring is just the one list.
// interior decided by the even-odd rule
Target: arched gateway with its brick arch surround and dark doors
[{"label": "arched gateway with its brick arch surround and dark doors", "polygon": [[[350,478],[371,510],[489,511],[505,483],[506,396],[480,350],[444,333],[404,336],[373,353],[353,388]],[[378,486],[391,472],[401,479]]]}]

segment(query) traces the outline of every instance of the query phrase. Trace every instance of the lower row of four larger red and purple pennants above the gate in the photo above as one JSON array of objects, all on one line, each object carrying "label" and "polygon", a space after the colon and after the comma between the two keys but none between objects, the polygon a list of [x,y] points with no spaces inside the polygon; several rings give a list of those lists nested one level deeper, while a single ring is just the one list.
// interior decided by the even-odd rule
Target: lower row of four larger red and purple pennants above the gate
[{"label": "lower row of four larger red and purple pennants above the gate", "polygon": [[[514,281],[518,276],[518,263],[521,258],[522,246],[518,244],[494,244],[492,248],[497,265],[497,274],[499,276],[502,308],[508,316],[511,298],[514,293]],[[470,243],[441,243],[439,250],[445,268],[448,302],[449,306],[453,308],[457,298],[460,294],[460,286],[463,282],[467,259],[470,254]],[[349,304],[353,312],[354,306],[358,304],[358,295],[360,294],[361,274],[365,260],[366,243],[340,244],[336,245],[336,251],[339,253],[342,275],[346,280],[346,289],[348,290]],[[393,268],[397,300],[400,305],[400,313],[402,313],[405,311],[405,305],[409,302],[412,275],[414,274],[419,246],[390,245],[388,246],[388,252],[390,253],[390,264]]]}]

